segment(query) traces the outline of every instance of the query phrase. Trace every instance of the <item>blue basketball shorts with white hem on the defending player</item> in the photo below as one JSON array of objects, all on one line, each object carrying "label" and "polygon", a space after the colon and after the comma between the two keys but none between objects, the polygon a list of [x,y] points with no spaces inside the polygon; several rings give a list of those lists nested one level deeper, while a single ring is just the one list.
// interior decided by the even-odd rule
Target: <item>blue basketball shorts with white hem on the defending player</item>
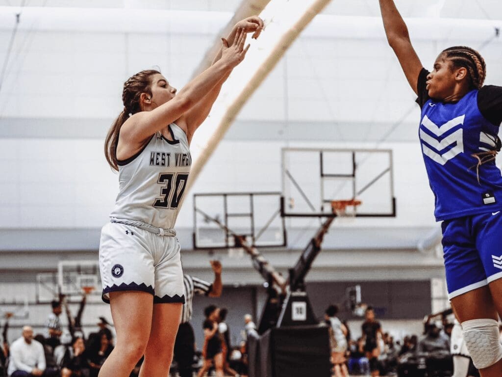
[{"label": "blue basketball shorts with white hem on the defending player", "polygon": [[450,300],[502,277],[502,211],[445,220],[441,228]]}]

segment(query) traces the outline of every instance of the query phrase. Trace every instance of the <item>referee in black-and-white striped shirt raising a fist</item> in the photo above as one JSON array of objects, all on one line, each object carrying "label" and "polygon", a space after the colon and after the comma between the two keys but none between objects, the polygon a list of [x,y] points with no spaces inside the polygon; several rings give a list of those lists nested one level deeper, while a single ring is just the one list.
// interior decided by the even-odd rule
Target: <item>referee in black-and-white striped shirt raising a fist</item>
[{"label": "referee in black-and-white striped shirt raising a fist", "polygon": [[193,277],[183,275],[185,285],[185,304],[181,315],[181,323],[174,343],[174,359],[178,363],[180,377],[192,377],[192,362],[195,354],[195,335],[190,325],[192,319],[192,300],[195,294],[209,297],[220,297],[223,285],[221,283],[221,263],[211,260],[211,268],[214,272],[214,281],[211,283]]}]

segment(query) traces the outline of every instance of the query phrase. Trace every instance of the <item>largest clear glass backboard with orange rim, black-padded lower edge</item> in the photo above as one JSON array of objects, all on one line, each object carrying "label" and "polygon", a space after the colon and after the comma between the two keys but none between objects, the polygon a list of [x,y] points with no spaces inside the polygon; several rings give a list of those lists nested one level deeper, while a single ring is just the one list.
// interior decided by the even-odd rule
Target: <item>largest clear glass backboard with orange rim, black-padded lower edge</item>
[{"label": "largest clear glass backboard with orange rim, black-padded lower edge", "polygon": [[283,217],[323,217],[355,199],[355,217],[395,217],[392,150],[282,149]]}]

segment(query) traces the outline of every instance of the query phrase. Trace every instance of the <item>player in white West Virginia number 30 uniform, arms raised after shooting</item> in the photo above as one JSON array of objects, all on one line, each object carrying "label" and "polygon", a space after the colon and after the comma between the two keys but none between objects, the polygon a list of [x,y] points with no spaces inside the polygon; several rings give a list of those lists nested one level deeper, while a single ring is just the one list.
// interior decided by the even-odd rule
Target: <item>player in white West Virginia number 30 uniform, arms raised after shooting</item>
[{"label": "player in white West Virginia number 30 uniform, arms raised after shooting", "polygon": [[246,33],[258,38],[262,30],[258,17],[238,22],[212,65],[179,93],[155,70],[124,83],[124,109],[105,141],[119,193],[101,231],[99,262],[117,336],[100,377],[129,376],[143,355],[141,377],[168,375],[185,302],[173,228],[192,162],[190,140],[244,58]]}]

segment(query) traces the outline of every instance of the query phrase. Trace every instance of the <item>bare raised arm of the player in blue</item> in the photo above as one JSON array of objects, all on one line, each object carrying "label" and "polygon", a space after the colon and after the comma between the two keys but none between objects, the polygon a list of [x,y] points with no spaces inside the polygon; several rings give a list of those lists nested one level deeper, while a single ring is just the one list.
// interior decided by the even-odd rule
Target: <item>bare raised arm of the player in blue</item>
[{"label": "bare raised arm of the player in blue", "polygon": [[399,14],[394,0],[380,0],[380,10],[389,45],[396,53],[410,86],[417,94],[418,75],[423,66],[411,44],[408,28]]}]

